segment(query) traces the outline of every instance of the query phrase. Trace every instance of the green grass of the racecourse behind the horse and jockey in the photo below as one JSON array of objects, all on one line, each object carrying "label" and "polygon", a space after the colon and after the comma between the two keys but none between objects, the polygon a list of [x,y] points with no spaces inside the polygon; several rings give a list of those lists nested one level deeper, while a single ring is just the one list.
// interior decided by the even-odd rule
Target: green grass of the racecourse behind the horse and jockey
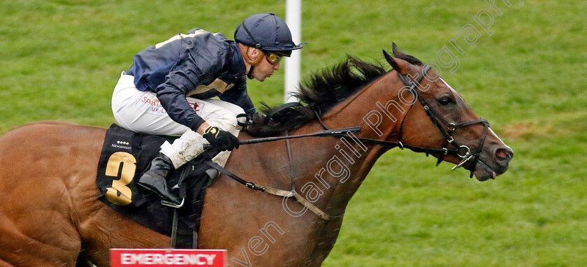
[{"label": "green grass of the racecourse behind the horse and jockey", "polygon": [[[232,38],[285,1],[0,1],[0,133],[37,120],[108,127],[132,56],[194,27]],[[303,77],[346,54],[382,61],[391,42],[423,62],[465,24],[460,67],[442,76],[516,153],[495,181],[392,150],[352,199],[324,266],[584,266],[587,262],[585,1],[512,1],[489,36],[484,1],[304,1]],[[493,10],[492,10],[493,11]],[[453,49],[453,52],[455,50]],[[282,101],[283,72],[249,82]]]}]

